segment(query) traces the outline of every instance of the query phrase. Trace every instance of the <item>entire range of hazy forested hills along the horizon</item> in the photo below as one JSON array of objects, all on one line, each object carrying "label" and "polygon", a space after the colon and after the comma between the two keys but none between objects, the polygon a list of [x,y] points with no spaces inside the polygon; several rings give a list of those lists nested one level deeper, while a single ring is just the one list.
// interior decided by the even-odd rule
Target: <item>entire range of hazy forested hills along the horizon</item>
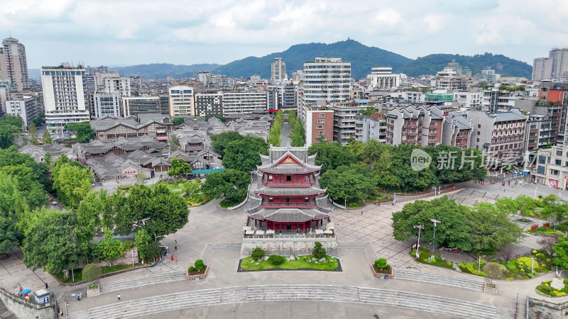
[{"label": "entire range of hazy forested hills along the horizon", "polygon": [[[421,74],[436,74],[452,60],[458,62],[462,67],[469,67],[472,74],[481,73],[481,70],[486,67],[494,69],[497,64],[503,65],[502,70],[496,71],[503,77],[530,78],[532,74],[532,66],[504,55],[493,55],[487,52],[483,55],[473,56],[432,54],[413,60],[395,52],[363,45],[355,40],[345,40],[330,44],[307,43],[293,45],[283,52],[275,52],[263,57],[246,57],[226,65],[155,63],[129,67],[111,67],[110,70],[122,72],[126,77],[139,74],[141,77],[155,77],[156,79],[165,79],[168,76],[176,79],[190,77],[193,72],[197,71],[209,71],[229,77],[250,77],[258,74],[263,79],[268,79],[271,75],[271,63],[275,57],[283,58],[286,63],[288,76],[295,70],[302,69],[304,62],[312,61],[315,57],[341,57],[344,61],[351,62],[351,74],[353,74],[355,79],[366,77],[366,74],[371,72],[371,67],[393,67],[393,72],[402,72],[409,77],[417,77]],[[31,78],[38,79],[40,72],[39,69],[30,69],[29,74]]]}]

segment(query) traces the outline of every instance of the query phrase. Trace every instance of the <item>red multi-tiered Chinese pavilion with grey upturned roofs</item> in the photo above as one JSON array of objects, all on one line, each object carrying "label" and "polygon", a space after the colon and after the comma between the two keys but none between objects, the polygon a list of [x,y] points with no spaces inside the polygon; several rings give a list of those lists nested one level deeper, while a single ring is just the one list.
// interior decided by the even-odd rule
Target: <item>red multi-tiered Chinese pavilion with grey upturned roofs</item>
[{"label": "red multi-tiered Chinese pavilion with grey upturned roofs", "polygon": [[307,147],[271,147],[261,155],[258,188],[247,213],[263,230],[310,230],[322,228],[332,208],[317,176],[321,166]]}]

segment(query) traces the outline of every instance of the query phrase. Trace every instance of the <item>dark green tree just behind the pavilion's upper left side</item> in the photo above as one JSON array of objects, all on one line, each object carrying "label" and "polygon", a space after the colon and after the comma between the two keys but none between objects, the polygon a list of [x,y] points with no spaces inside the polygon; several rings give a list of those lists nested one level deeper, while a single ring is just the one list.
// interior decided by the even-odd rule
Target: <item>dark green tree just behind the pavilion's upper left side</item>
[{"label": "dark green tree just behind the pavilion's upper left side", "polygon": [[241,140],[230,142],[224,152],[224,167],[251,172],[256,170],[256,165],[262,163],[259,154],[268,154],[268,145],[262,138],[246,136]]}]

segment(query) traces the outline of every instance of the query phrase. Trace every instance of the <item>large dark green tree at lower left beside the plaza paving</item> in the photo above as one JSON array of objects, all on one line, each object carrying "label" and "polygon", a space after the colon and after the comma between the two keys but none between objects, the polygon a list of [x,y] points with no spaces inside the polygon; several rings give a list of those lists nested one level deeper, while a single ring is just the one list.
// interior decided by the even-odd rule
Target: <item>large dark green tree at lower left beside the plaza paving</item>
[{"label": "large dark green tree at lower left beside the plaza paving", "polygon": [[43,208],[34,211],[31,217],[22,246],[23,263],[27,267],[32,270],[43,267],[56,274],[84,262],[87,251],[77,242],[74,213]]}]

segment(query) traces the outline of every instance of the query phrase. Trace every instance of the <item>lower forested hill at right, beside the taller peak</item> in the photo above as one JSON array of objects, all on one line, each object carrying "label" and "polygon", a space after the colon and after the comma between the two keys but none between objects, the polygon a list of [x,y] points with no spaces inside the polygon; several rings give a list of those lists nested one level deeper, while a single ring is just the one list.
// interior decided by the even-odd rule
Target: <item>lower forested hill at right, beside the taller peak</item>
[{"label": "lower forested hill at right, beside the taller peak", "polygon": [[449,55],[435,54],[419,57],[409,62],[400,69],[400,72],[407,74],[409,77],[417,77],[421,74],[436,74],[441,71],[449,63],[455,60],[461,67],[469,67],[471,74],[481,73],[485,67],[495,69],[498,63],[503,65],[503,70],[496,70],[496,73],[503,77],[526,77],[530,79],[532,75],[532,66],[525,62],[511,59],[504,55],[493,55],[485,53],[484,55]]}]

